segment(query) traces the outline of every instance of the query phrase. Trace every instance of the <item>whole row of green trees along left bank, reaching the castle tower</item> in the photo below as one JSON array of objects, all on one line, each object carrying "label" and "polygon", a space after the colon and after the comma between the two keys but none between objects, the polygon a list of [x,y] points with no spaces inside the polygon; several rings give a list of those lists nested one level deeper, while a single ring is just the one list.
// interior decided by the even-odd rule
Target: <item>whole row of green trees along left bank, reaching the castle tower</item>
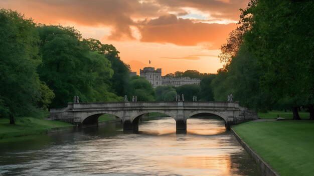
[{"label": "whole row of green trees along left bank, reaching the castle tower", "polygon": [[154,99],[147,80],[129,77],[113,45],[7,9],[0,10],[0,59],[0,117],[10,116],[10,123],[64,107],[75,95],[80,102],[119,101],[125,94]]}]

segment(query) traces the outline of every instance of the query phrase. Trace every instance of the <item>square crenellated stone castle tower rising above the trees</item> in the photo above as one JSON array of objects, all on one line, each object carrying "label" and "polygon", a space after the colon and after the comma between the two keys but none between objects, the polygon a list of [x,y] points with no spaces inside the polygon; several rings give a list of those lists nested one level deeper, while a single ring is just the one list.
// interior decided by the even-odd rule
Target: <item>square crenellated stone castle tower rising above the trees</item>
[{"label": "square crenellated stone castle tower rising above the trees", "polygon": [[162,68],[144,67],[139,69],[139,75],[145,77],[152,87],[162,85]]}]

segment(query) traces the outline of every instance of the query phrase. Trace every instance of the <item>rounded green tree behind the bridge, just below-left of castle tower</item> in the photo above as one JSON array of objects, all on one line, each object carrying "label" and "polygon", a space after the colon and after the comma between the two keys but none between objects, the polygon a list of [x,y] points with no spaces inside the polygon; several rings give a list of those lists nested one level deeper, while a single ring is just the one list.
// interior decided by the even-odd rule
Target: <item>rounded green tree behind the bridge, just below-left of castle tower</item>
[{"label": "rounded green tree behind the bridge, just below-left of castle tower", "polygon": [[153,101],[155,98],[155,91],[151,83],[140,76],[132,76],[130,80],[130,93],[128,97],[137,96],[138,101]]}]

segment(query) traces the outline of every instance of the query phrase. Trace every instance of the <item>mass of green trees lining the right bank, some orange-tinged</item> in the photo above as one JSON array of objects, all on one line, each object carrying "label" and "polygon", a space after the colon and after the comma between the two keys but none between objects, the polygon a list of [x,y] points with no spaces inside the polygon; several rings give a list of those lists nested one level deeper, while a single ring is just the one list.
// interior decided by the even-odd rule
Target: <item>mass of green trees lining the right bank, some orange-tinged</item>
[{"label": "mass of green trees lining the right bank, some orange-tinged", "polygon": [[225,62],[212,81],[215,100],[255,110],[306,107],[314,119],[314,2],[250,0],[221,46]]}]

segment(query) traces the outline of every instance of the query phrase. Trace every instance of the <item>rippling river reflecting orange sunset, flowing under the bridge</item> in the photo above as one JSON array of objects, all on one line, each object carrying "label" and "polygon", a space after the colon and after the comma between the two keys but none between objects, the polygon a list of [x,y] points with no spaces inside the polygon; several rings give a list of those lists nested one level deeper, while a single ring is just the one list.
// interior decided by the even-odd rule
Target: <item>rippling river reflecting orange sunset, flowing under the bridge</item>
[{"label": "rippling river reflecting orange sunset, flowing under the bridge", "polygon": [[171,117],[21,137],[0,143],[0,175],[259,175],[223,120],[191,118],[176,134]]}]

